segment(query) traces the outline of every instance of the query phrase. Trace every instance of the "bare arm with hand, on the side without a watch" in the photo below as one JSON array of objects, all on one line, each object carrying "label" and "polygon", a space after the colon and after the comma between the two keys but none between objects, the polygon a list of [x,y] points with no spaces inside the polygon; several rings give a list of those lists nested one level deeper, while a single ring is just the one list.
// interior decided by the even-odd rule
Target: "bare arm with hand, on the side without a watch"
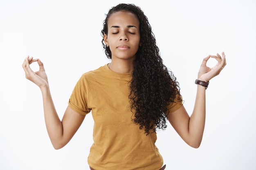
[{"label": "bare arm with hand, on the side without a watch", "polygon": [[[39,71],[34,72],[31,70],[29,65],[33,62],[38,62]],[[52,101],[43,63],[39,59],[33,59],[33,57],[29,58],[27,56],[22,67],[25,71],[26,78],[38,85],[42,92],[47,132],[54,148],[60,149],[74,136],[75,132],[81,126],[85,115],[76,113],[68,106],[61,121]]]}]

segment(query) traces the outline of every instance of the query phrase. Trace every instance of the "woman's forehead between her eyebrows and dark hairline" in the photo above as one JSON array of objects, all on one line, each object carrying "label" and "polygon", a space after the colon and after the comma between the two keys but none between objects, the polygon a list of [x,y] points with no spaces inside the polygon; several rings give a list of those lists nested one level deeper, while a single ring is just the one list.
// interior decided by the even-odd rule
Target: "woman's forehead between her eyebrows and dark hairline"
[{"label": "woman's forehead between her eyebrows and dark hairline", "polygon": [[108,19],[108,26],[127,26],[134,25],[139,26],[139,20],[134,13],[129,11],[117,11],[112,13]]}]

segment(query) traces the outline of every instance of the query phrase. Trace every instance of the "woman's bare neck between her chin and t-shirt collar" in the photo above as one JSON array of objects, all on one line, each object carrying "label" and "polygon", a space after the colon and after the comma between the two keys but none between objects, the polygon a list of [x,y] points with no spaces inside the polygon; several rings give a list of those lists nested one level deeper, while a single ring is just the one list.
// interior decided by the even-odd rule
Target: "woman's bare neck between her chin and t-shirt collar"
[{"label": "woman's bare neck between her chin and t-shirt collar", "polygon": [[116,73],[132,73],[133,60],[112,60],[109,68]]}]

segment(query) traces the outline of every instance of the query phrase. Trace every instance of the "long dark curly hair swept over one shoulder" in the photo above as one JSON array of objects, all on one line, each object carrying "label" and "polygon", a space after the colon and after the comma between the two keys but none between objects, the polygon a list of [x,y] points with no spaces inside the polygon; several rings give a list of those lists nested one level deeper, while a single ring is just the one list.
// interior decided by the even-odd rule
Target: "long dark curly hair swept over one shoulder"
[{"label": "long dark curly hair swept over one shoulder", "polygon": [[[108,19],[117,11],[129,11],[139,19],[140,43],[133,62],[132,79],[130,81],[130,107],[134,114],[133,121],[145,129],[146,135],[165,129],[166,117],[169,114],[168,104],[182,101],[179,83],[173,72],[163,64],[159,48],[156,45],[155,35],[152,32],[148,18],[144,12],[134,4],[118,4],[112,7],[103,22],[101,35],[108,34]],[[109,59],[111,51],[102,40],[103,48]]]}]

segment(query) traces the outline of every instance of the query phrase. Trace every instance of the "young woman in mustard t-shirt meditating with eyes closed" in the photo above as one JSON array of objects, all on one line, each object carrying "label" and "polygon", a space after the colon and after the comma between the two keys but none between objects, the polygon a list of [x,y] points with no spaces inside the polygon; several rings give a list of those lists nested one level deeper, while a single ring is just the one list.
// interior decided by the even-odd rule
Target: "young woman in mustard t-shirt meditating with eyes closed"
[{"label": "young woman in mustard t-shirt meditating with eyes closed", "polygon": [[[26,78],[42,92],[45,123],[54,148],[65,146],[90,112],[94,119],[94,144],[88,157],[91,170],[159,170],[163,159],[155,146],[156,130],[166,128],[167,119],[187,144],[198,148],[204,131],[205,90],[226,65],[225,54],[203,59],[189,117],[178,82],[164,66],[151,26],[139,7],[119,4],[110,9],[101,33],[111,63],[81,76],[62,121],[54,108],[43,63],[27,56],[22,65]],[[210,57],[218,61],[213,68],[206,66]],[[31,70],[33,62],[38,62],[39,71]]]}]

